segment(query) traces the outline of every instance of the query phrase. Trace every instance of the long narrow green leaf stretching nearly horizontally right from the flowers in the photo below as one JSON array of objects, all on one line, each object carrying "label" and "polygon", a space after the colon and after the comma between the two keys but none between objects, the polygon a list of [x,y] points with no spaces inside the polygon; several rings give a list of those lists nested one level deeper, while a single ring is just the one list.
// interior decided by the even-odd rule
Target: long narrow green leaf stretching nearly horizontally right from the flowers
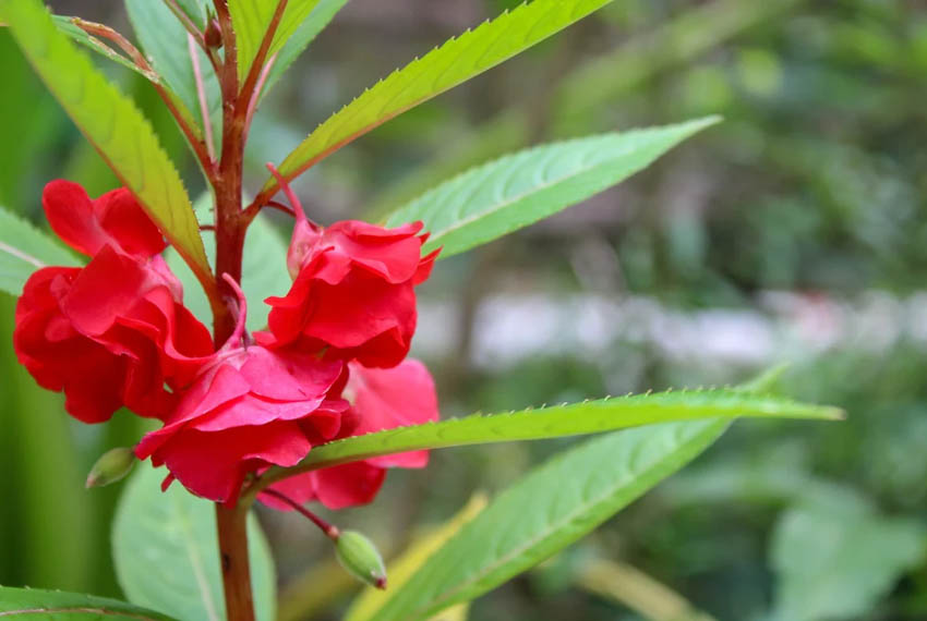
[{"label": "long narrow green leaf stretching nearly horizontally right from the flowers", "polygon": [[616,397],[509,414],[478,414],[345,438],[313,449],[297,466],[267,471],[263,480],[278,480],[297,472],[421,449],[538,440],[654,423],[738,416],[838,419],[842,412],[835,407],[808,405],[778,397],[751,395],[736,390]]}]

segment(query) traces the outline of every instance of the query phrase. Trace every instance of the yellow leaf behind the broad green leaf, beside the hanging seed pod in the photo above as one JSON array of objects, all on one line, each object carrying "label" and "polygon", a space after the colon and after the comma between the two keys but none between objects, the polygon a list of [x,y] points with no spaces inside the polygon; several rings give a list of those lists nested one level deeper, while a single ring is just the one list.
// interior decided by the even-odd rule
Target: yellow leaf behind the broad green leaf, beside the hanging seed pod
[{"label": "yellow leaf behind the broad green leaf, beside the hanging seed pod", "polygon": [[351,602],[351,607],[345,614],[345,621],[368,621],[389,601],[393,594],[406,584],[435,551],[479,515],[487,503],[489,499],[485,494],[474,494],[450,520],[437,528],[416,537],[412,545],[386,567],[386,576],[389,581],[388,588],[365,587]]}]

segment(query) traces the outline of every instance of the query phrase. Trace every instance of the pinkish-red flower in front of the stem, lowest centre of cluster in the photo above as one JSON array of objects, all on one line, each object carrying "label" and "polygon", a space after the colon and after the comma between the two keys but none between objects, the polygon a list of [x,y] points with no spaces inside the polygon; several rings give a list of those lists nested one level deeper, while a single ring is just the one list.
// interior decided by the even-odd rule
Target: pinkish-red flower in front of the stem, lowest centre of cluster
[{"label": "pinkish-red flower in front of the stem, lowest centre of cluster", "polygon": [[135,454],[167,464],[165,487],[177,478],[197,496],[233,504],[249,473],[294,465],[337,436],[348,403],[328,394],[342,378],[341,362],[260,345],[221,351]]}]

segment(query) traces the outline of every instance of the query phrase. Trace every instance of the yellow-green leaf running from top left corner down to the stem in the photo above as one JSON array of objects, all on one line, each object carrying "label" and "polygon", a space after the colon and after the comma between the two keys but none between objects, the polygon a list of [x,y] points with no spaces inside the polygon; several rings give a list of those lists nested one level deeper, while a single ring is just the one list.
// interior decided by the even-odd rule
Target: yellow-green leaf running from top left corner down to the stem
[{"label": "yellow-green leaf running from top left corner down to the stem", "polygon": [[190,198],[151,123],[56,27],[38,0],[0,0],[0,20],[52,95],[145,211],[213,287]]}]

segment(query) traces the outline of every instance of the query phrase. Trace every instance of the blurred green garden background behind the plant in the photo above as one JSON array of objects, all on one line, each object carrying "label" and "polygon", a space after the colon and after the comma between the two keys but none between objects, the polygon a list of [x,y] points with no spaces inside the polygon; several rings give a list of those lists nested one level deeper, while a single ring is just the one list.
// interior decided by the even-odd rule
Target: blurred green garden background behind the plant
[{"label": "blurred green garden background behind the plant", "polygon": [[[115,0],[51,4],[131,32]],[[260,110],[251,190],[265,161],[363,87],[514,4],[351,0]],[[198,194],[154,92],[107,71]],[[0,75],[0,204],[38,222],[51,179],[92,195],[117,185],[2,29]],[[630,182],[440,264],[414,348],[446,416],[732,383],[783,362],[786,392],[850,413],[735,426],[471,619],[927,619],[925,101],[919,2],[615,0],[299,180],[316,220],[376,218],[507,150],[723,114]],[[119,488],[85,491],[83,478],[141,429],[129,415],[74,424],[60,395],[36,388],[12,355],[14,303],[0,293],[0,584],[118,596]],[[436,452],[334,519],[396,551],[564,443]],[[261,516],[281,617],[337,618],[354,586],[327,543],[296,516]]]}]

